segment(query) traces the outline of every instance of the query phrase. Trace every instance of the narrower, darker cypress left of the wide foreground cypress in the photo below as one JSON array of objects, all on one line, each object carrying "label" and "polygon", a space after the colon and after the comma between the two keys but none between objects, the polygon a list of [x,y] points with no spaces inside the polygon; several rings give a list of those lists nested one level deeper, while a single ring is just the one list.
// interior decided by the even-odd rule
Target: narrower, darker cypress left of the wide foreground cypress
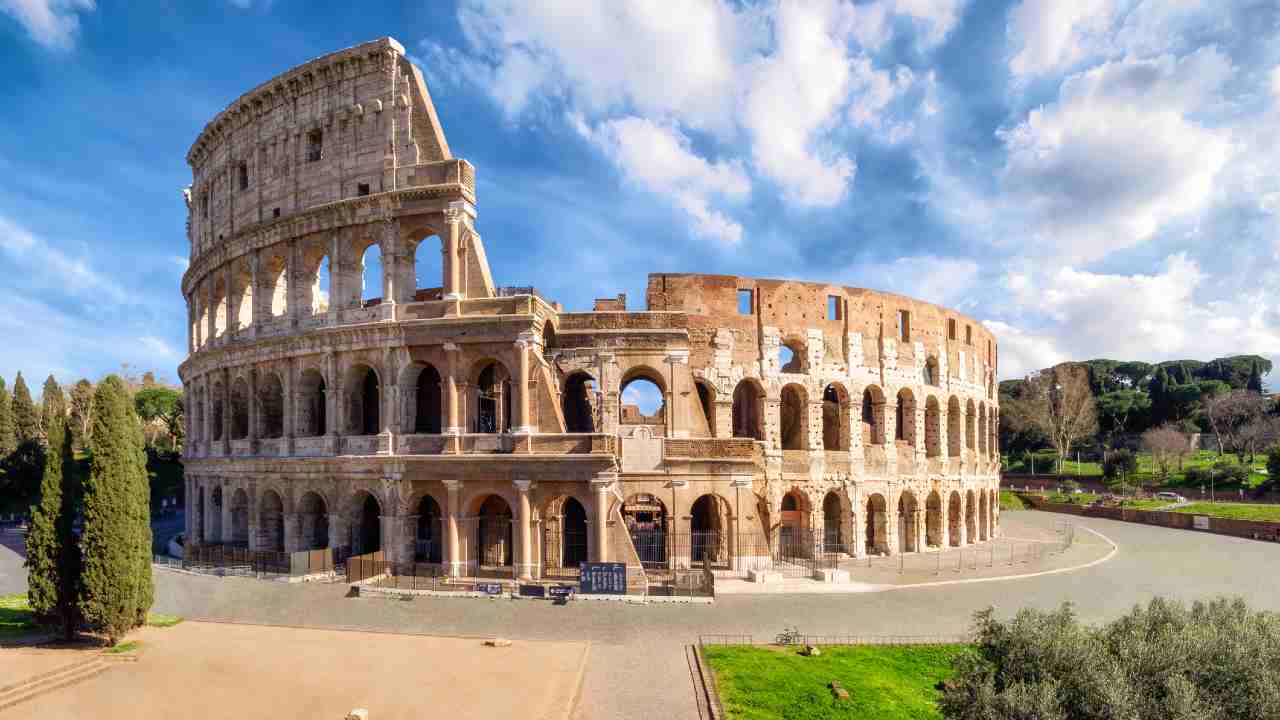
[{"label": "narrower, darker cypress left of the wide foreground cypress", "polygon": [[78,488],[63,391],[52,377],[45,382],[44,415],[49,456],[27,532],[27,598],[41,623],[72,639],[79,625],[81,562],[73,529]]}]

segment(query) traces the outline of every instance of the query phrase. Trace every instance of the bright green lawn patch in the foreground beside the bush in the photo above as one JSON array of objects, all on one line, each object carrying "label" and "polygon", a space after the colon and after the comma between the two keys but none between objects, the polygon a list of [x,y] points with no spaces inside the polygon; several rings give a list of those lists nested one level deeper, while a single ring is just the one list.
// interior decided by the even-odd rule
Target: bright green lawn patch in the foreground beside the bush
[{"label": "bright green lawn patch in the foreground beside the bush", "polygon": [[[804,657],[796,647],[704,648],[716,671],[724,712],[732,719],[803,720],[941,717],[934,706],[951,659],[965,646],[841,646]],[[832,680],[849,691],[837,701]]]}]

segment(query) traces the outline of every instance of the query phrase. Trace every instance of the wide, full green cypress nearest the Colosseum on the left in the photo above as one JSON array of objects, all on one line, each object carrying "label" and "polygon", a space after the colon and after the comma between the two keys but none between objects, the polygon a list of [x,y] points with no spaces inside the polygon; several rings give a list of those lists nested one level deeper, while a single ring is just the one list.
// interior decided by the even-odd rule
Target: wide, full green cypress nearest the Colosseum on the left
[{"label": "wide, full green cypress nearest the Colosseum on the left", "polygon": [[108,375],[93,393],[91,445],[79,607],[86,624],[114,644],[146,621],[154,593],[142,428],[118,375]]}]

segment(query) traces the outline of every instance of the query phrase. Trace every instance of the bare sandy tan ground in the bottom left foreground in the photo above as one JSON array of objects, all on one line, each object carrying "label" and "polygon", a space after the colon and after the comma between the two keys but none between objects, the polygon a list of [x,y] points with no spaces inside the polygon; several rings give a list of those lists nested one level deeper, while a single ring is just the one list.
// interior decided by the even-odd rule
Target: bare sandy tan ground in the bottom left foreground
[{"label": "bare sandy tan ground in the bottom left foreground", "polygon": [[[568,717],[589,651],[581,642],[492,648],[480,639],[193,621],[146,628],[131,639],[142,643],[137,662],[0,717],[340,720],[365,707],[372,720],[558,720]],[[0,684],[84,657],[0,651]]]}]

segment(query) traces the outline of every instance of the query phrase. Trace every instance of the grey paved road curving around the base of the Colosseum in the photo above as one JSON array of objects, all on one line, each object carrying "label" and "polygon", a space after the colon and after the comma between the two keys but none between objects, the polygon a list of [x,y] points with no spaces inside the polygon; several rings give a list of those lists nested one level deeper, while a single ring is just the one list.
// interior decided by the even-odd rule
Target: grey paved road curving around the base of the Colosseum
[{"label": "grey paved road curving around the base of the Colosseum", "polygon": [[[1006,512],[1006,529],[1048,527],[1050,512]],[[346,585],[285,585],[238,578],[156,573],[156,610],[271,624],[352,626],[431,634],[589,639],[579,717],[695,717],[684,644],[698,634],[771,638],[786,626],[810,634],[954,634],[973,612],[996,606],[1076,605],[1101,621],[1155,596],[1193,601],[1244,597],[1280,611],[1280,544],[1133,523],[1074,519],[1120,546],[1107,562],[1015,580],[826,596],[727,596],[712,606],[419,598],[347,598]],[[4,550],[0,550],[4,555]],[[0,577],[4,559],[0,557]],[[19,568],[20,570],[20,568]]]}]

